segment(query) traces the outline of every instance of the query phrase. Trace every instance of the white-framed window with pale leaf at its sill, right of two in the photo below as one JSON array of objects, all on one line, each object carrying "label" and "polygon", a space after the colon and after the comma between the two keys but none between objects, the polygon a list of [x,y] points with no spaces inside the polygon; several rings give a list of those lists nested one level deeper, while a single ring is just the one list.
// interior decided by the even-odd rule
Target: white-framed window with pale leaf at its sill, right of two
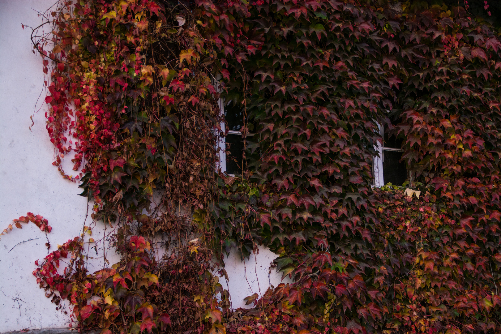
[{"label": "white-framed window with pale leaf at its sill, right of two", "polygon": [[399,162],[403,140],[390,136],[381,125],[379,131],[383,134],[383,145],[378,142],[374,147],[379,153],[379,157],[373,160],[374,185],[381,187],[391,183],[400,186],[407,180],[407,167],[404,162]]}]

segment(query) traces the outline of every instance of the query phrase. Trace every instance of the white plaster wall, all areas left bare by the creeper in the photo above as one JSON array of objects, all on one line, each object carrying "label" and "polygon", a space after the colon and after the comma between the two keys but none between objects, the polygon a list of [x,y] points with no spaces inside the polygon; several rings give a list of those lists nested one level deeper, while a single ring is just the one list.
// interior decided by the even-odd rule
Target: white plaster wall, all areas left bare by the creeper
[{"label": "white plaster wall, all areas left bare by the creeper", "polygon": [[[50,251],[81,233],[88,212],[77,184],[63,179],[52,165],[54,150],[45,128],[47,107],[42,103],[42,59],[32,53],[31,30],[21,28],[21,24],[38,26],[37,11],[44,12],[54,3],[0,0],[0,231],[27,212],[43,215],[52,226]],[[33,114],[35,125],[30,131]],[[90,223],[89,215],[86,224]],[[99,240],[104,232],[98,223],[92,237]],[[24,242],[29,239],[34,240]],[[35,260],[48,254],[46,242],[45,233],[32,223],[1,237],[0,333],[66,327],[70,322],[68,315],[55,310],[32,274]],[[98,254],[90,250],[89,255],[95,257],[89,271],[98,270],[103,264],[103,245]],[[111,263],[117,260],[113,254],[107,258]],[[281,275],[275,269],[269,272],[274,258],[270,250],[260,248],[259,255],[251,256],[244,266],[236,252],[230,254],[225,269],[233,308],[249,307],[244,297],[255,292],[261,295],[270,284],[280,283]],[[224,279],[221,283],[224,286]]]}]

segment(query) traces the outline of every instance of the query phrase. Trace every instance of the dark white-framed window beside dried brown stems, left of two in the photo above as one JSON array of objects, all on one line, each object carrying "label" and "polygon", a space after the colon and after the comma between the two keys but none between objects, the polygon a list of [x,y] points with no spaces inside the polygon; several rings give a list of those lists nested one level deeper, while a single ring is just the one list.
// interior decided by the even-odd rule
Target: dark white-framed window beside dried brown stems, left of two
[{"label": "dark white-framed window beside dried brown stems, left of two", "polygon": [[[252,138],[253,133],[247,133],[246,138],[242,138],[242,128],[246,122],[244,119],[243,108],[240,104],[234,104],[229,101],[226,105],[222,99],[219,99],[219,110],[224,115],[228,126],[228,133],[225,137],[219,139],[219,168],[221,172],[229,175],[235,173],[241,174],[242,170],[247,168],[247,159],[244,155],[244,146],[246,141]],[[247,125],[252,130],[252,125]],[[221,123],[221,131],[225,132],[225,124]],[[245,142],[244,142],[245,139]]]}]

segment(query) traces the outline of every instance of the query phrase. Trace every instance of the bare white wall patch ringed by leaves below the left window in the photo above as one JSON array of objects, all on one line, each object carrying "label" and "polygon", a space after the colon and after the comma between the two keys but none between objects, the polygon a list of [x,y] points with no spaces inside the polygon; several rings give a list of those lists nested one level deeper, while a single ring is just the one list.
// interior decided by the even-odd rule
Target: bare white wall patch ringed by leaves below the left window
[{"label": "bare white wall patch ringed by leaves below the left window", "polygon": [[277,254],[262,246],[258,246],[258,251],[258,254],[251,254],[243,262],[236,250],[232,250],[224,258],[224,269],[229,280],[225,282],[224,278],[220,278],[219,282],[229,291],[233,309],[252,308],[252,304],[245,305],[243,298],[254,293],[258,293],[261,297],[272,285],[277,287],[280,283],[292,283],[289,277],[282,280],[282,273],[271,267]]}]

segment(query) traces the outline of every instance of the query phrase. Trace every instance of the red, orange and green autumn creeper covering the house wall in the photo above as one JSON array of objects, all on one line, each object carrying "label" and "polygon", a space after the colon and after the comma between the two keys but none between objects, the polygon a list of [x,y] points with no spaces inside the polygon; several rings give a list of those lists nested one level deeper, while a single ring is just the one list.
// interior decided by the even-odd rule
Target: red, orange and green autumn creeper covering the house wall
[{"label": "red, orange and green autumn creeper covering the house wall", "polygon": [[[37,263],[80,329],[501,331],[501,43],[467,7],[80,0],[46,24],[54,165],[121,256],[88,273],[85,230]],[[241,175],[217,173],[219,98],[245,115]],[[405,194],[371,186],[380,125]],[[233,311],[220,260],[257,244],[293,283]]]}]

